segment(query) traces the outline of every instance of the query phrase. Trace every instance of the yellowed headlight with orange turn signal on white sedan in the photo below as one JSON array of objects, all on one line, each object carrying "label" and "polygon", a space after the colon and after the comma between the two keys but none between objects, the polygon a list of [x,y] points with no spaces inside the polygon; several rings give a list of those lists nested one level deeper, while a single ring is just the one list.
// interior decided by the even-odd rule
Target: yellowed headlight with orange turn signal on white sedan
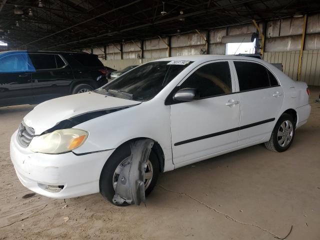
[{"label": "yellowed headlight with orange turn signal on white sedan", "polygon": [[76,128],[60,129],[34,136],[29,145],[31,151],[41,153],[64,153],[80,146],[88,132]]}]

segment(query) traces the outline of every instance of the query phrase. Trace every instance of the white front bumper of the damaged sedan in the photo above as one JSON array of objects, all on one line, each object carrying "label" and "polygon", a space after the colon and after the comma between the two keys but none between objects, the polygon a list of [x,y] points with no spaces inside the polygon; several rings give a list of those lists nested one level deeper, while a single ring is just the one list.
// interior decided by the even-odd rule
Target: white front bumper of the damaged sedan
[{"label": "white front bumper of the damaged sedan", "polygon": [[[31,152],[17,142],[17,131],[10,141],[10,157],[20,182],[30,190],[52,198],[69,198],[99,192],[99,178],[105,161],[113,152],[105,150],[84,155],[73,152],[44,154]],[[46,185],[63,185],[52,192]]]}]

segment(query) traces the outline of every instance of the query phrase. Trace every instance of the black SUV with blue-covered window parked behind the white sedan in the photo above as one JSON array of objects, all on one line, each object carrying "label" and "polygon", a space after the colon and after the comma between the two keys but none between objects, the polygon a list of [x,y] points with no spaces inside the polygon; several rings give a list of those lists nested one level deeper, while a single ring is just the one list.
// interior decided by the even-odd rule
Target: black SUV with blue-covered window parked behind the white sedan
[{"label": "black SUV with blue-covered window parked behind the white sedan", "polygon": [[94,54],[55,51],[0,52],[0,106],[39,103],[98,88],[112,68]]}]

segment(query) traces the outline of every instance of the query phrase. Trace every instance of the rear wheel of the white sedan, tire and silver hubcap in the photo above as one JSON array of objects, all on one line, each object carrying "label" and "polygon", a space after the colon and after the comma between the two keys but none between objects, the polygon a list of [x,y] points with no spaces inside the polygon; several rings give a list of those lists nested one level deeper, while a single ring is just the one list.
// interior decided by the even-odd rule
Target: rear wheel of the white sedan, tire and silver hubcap
[{"label": "rear wheel of the white sedan, tire and silver hubcap", "polygon": [[264,142],[270,151],[282,152],[289,148],[295,133],[295,122],[292,115],[283,113],[276,122],[270,140]]}]

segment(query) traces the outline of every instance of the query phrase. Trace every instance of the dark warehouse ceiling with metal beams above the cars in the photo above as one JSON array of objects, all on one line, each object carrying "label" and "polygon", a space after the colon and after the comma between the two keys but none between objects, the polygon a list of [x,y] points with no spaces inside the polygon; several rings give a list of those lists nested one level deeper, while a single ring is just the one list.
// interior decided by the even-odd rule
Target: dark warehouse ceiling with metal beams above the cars
[{"label": "dark warehouse ceiling with metal beams above the cars", "polygon": [[319,0],[0,0],[0,41],[77,49],[319,9]]}]

